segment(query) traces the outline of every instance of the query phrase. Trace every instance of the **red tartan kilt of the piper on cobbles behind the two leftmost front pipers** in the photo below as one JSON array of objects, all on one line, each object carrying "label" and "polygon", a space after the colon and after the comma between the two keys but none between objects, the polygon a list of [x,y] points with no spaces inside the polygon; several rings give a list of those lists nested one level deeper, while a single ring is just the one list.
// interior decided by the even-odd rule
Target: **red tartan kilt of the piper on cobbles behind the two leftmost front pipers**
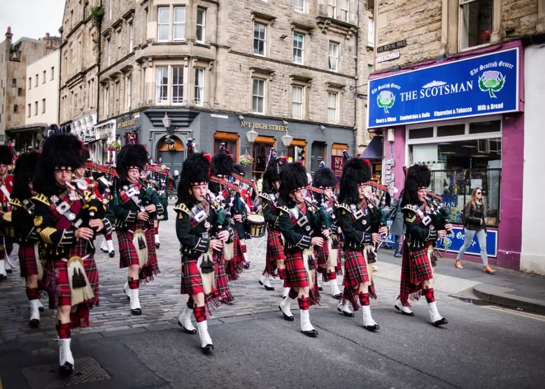
[{"label": "red tartan kilt of the piper on cobbles behind the two leftmost front pipers", "polygon": [[[147,228],[147,229],[146,229]],[[157,254],[155,252],[155,236],[154,228],[147,227],[147,222],[138,220],[136,224],[129,226],[131,231],[143,229],[146,236],[146,244],[148,246],[148,263],[140,269],[140,282],[153,281],[153,276],[159,274],[159,264],[157,263]],[[119,243],[119,268],[128,268],[129,265],[138,265],[138,254],[136,248],[132,244],[133,234],[129,231],[117,232],[117,241]]]}]

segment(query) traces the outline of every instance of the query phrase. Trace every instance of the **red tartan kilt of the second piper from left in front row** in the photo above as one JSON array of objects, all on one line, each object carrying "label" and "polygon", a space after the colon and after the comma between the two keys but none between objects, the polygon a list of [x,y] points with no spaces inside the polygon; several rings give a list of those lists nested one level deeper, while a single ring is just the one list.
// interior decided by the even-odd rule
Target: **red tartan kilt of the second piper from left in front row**
[{"label": "red tartan kilt of the second piper from left in front row", "polygon": [[[197,268],[198,258],[181,257],[181,294],[194,295],[197,293],[204,293],[203,283],[201,275]],[[217,254],[213,255],[214,265],[214,278],[216,288],[208,295],[204,296],[204,302],[207,309],[207,313],[211,314],[211,310],[219,307],[225,302],[233,301],[233,296],[229,290],[227,282],[227,276],[225,274],[225,268],[223,261],[217,260]]]}]

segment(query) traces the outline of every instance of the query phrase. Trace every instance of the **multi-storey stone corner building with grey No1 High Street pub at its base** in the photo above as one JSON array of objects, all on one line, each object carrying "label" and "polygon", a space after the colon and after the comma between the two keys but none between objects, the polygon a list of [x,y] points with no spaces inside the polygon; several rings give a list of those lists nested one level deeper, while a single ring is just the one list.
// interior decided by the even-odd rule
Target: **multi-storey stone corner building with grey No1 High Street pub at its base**
[{"label": "multi-storey stone corner building with grey No1 High Street pub at its base", "polygon": [[[364,3],[102,1],[95,139],[115,132],[122,144],[144,143],[172,169],[195,138],[210,153],[226,142],[237,160],[250,154],[253,175],[263,172],[271,147],[304,156],[311,171],[324,160],[340,173],[342,150],[355,154],[366,142],[356,141],[357,130],[365,133],[365,94],[357,88],[368,74]],[[72,41],[64,29],[63,50]],[[61,90],[61,112],[78,109],[74,99]],[[288,147],[283,136],[293,138]],[[93,150],[104,161],[100,143]]]}]

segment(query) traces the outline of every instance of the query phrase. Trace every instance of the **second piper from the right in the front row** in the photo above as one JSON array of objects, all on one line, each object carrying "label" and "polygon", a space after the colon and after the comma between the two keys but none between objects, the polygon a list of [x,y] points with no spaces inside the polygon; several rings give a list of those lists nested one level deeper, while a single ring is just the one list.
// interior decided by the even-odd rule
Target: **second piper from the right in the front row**
[{"label": "second piper from the right in the front row", "polygon": [[341,177],[337,223],[344,236],[344,291],[338,311],[353,317],[348,304],[354,311],[361,308],[364,326],[369,331],[378,330],[379,325],[371,316],[370,298],[377,298],[372,281],[371,263],[374,262],[374,243],[387,235],[387,227],[378,227],[373,222],[373,205],[365,196],[365,188],[371,179],[371,168],[359,158],[344,163]]}]

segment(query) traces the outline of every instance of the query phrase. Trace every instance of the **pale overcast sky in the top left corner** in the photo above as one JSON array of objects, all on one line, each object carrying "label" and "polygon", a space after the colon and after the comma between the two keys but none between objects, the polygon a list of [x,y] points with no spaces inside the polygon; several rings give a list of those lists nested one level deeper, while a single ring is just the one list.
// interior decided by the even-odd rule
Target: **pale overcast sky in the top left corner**
[{"label": "pale overcast sky in the top left corner", "polygon": [[11,26],[13,42],[22,37],[43,38],[45,33],[59,35],[64,0],[0,0],[0,42]]}]

